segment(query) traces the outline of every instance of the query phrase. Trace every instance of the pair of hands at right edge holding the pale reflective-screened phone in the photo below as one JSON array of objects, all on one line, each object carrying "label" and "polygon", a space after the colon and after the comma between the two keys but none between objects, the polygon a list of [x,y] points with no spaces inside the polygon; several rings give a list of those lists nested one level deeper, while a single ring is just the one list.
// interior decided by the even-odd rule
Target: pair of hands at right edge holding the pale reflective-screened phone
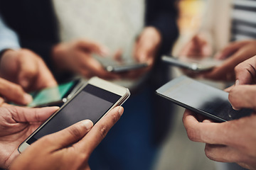
[{"label": "pair of hands at right edge holding the pale reflective-screened phone", "polygon": [[[237,81],[227,89],[233,108],[252,108],[256,111],[255,70],[256,56],[235,67]],[[195,142],[206,143],[205,152],[209,159],[236,162],[246,169],[256,169],[256,113],[225,123],[198,120],[198,115],[185,111],[183,124],[188,137]]]}]

